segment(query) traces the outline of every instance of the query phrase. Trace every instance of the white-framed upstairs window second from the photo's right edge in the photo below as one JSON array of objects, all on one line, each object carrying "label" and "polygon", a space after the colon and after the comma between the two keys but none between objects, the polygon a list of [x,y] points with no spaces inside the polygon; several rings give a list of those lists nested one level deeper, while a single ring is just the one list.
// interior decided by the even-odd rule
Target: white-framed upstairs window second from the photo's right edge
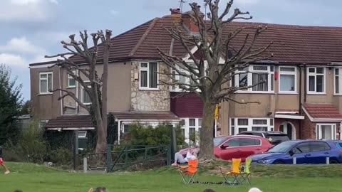
[{"label": "white-framed upstairs window second from the photo's right edge", "polygon": [[308,68],[308,93],[323,94],[326,92],[325,68]]}]

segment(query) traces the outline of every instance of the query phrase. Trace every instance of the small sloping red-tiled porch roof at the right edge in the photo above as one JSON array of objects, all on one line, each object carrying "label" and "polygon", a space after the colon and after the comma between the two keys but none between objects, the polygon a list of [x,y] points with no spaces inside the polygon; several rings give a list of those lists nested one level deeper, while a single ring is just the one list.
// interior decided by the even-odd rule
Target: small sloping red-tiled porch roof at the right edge
[{"label": "small sloping red-tiled porch roof at the right edge", "polygon": [[342,114],[331,104],[309,104],[305,103],[304,108],[314,119],[342,119]]}]

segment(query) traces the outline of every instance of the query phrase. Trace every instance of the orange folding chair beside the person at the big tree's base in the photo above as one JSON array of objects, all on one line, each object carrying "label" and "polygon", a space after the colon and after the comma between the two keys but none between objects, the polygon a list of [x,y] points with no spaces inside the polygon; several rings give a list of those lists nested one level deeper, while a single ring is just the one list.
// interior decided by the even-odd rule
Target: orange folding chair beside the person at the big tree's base
[{"label": "orange folding chair beside the person at the big tree's base", "polygon": [[198,160],[189,160],[187,166],[180,166],[180,175],[185,184],[195,183]]}]

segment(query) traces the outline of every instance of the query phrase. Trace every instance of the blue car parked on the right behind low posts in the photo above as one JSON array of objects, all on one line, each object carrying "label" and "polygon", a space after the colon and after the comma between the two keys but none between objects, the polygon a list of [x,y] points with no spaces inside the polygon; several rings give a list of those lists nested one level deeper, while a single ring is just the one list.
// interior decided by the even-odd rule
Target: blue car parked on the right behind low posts
[{"label": "blue car parked on the right behind low posts", "polygon": [[258,164],[326,164],[326,157],[330,164],[342,163],[342,149],[340,142],[323,140],[304,140],[283,142],[266,151],[264,154],[249,156],[253,163]]}]

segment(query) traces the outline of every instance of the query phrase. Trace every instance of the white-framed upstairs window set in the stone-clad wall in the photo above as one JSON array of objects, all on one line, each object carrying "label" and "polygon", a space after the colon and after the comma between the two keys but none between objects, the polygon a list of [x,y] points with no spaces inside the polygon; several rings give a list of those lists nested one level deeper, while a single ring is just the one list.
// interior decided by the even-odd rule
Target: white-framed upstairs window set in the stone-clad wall
[{"label": "white-framed upstairs window set in the stone-clad wall", "polygon": [[140,63],[140,90],[157,90],[159,67],[157,62]]}]

